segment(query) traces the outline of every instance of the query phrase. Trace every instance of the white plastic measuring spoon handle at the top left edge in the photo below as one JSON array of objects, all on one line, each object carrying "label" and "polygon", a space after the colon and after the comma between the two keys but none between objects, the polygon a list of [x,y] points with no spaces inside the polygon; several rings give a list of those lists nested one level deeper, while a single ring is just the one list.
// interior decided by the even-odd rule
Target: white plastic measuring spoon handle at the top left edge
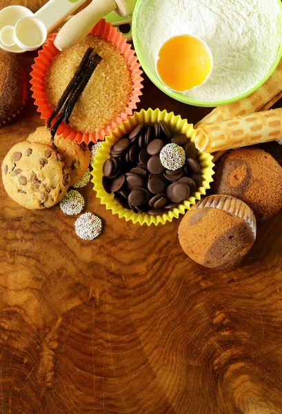
[{"label": "white plastic measuring spoon handle at the top left edge", "polygon": [[41,20],[47,32],[52,32],[65,20],[72,12],[77,10],[86,0],[49,0],[45,6],[41,7],[34,17]]}]

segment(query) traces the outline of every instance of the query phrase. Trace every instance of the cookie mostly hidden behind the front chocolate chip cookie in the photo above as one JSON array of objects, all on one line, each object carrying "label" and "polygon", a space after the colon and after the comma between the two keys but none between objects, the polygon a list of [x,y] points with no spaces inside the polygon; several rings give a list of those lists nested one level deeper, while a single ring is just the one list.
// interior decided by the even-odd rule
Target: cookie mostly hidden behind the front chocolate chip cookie
[{"label": "cookie mostly hidden behind the front chocolate chip cookie", "polygon": [[[40,126],[29,135],[28,141],[50,146],[50,132],[46,126]],[[84,143],[79,145],[76,141],[72,142],[70,139],[63,138],[61,135],[54,137],[54,144],[57,146],[57,151],[65,159],[66,167],[70,168],[70,186],[77,184],[90,164],[90,150],[88,145]]]}]

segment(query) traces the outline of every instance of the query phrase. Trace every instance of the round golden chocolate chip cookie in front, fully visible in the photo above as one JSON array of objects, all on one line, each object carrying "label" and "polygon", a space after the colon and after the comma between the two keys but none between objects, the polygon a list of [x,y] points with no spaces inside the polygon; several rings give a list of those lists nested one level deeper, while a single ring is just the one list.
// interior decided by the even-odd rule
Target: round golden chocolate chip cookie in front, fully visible
[{"label": "round golden chocolate chip cookie in front, fully visible", "polygon": [[70,185],[63,157],[43,144],[19,142],[3,159],[1,169],[8,195],[30,210],[54,206]]}]

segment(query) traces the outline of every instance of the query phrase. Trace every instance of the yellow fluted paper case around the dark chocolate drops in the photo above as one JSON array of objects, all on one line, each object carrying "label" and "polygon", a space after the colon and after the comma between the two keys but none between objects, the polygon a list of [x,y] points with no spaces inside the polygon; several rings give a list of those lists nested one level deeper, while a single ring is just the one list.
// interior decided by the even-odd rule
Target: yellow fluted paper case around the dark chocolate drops
[{"label": "yellow fluted paper case around the dark chocolate drops", "polygon": [[201,166],[201,175],[203,176],[203,186],[197,189],[193,197],[189,197],[188,200],[183,201],[182,204],[168,210],[168,213],[163,215],[152,216],[146,213],[134,213],[132,210],[126,210],[119,206],[114,201],[114,195],[105,192],[102,184],[103,179],[103,164],[106,159],[110,157],[110,148],[120,137],[130,132],[137,124],[152,124],[157,121],[165,121],[171,131],[181,132],[187,135],[190,141],[194,142],[193,126],[188,124],[186,119],[181,119],[180,115],[175,116],[173,112],[166,112],[166,110],[160,111],[159,109],[141,110],[141,112],[134,112],[134,115],[124,121],[121,126],[118,126],[109,137],[105,138],[105,141],[101,143],[95,162],[92,164],[92,183],[94,183],[94,191],[97,193],[97,197],[101,199],[101,204],[105,204],[107,210],[112,210],[113,214],[119,215],[119,218],[124,217],[126,221],[132,220],[133,223],[139,223],[141,225],[151,224],[158,225],[159,223],[165,224],[167,221],[172,221],[174,217],[178,218],[180,214],[185,214],[185,210],[190,210],[191,206],[196,204],[196,201],[201,199],[202,195],[205,195],[206,190],[210,188],[210,183],[213,181],[212,175],[214,175],[214,164],[212,163],[212,156],[199,152],[199,163]]}]

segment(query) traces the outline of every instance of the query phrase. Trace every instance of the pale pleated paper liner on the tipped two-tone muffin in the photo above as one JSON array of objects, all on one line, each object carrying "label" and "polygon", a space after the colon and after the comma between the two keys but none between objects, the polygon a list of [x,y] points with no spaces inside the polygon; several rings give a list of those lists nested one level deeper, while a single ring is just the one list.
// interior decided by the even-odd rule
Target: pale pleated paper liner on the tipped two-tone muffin
[{"label": "pale pleated paper liner on the tipped two-tone muffin", "polygon": [[256,239],[256,217],[254,217],[252,209],[243,201],[236,199],[231,195],[210,195],[194,206],[195,209],[205,207],[218,208],[219,210],[224,210],[236,217],[241,217],[241,219],[249,224],[254,239]]}]

